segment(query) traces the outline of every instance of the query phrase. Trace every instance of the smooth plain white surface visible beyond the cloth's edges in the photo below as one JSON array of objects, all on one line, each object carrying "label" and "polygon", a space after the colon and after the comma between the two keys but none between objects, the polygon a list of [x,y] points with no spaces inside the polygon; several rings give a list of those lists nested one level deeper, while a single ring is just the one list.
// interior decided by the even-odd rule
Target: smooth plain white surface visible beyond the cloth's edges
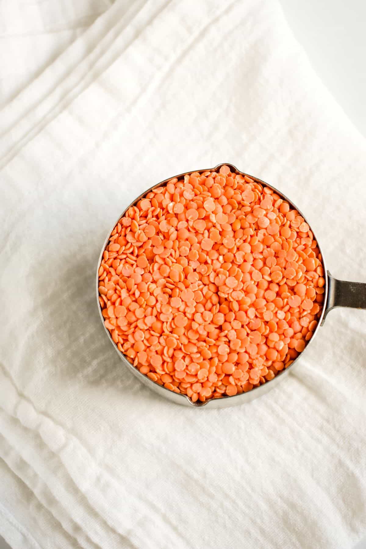
[{"label": "smooth plain white surface visible beyond the cloth's edges", "polygon": [[[366,136],[366,2],[280,1],[314,69],[353,124]],[[0,539],[0,549],[7,547]],[[357,549],[361,547],[366,547],[366,541]]]}]

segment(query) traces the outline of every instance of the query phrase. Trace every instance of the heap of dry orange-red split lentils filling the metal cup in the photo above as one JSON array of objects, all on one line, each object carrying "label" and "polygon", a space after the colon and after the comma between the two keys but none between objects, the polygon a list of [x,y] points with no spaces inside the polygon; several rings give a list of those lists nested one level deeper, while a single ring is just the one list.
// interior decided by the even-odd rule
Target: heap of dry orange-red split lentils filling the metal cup
[{"label": "heap of dry orange-red split lentils filling the metal cup", "polygon": [[173,178],[127,210],[103,253],[99,302],[127,360],[195,402],[287,368],[316,329],[324,282],[299,212],[222,166]]}]

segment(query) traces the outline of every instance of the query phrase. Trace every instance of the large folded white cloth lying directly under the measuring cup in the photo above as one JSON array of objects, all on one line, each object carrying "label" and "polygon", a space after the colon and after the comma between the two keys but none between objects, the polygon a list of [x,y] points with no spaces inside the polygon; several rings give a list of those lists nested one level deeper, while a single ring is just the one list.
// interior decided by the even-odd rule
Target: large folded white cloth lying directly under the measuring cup
[{"label": "large folded white cloth lying directly under the measuring cup", "polygon": [[95,297],[125,206],[225,161],[299,205],[334,276],[365,281],[366,142],[277,2],[116,2],[0,119],[0,534],[14,549],[352,547],[364,311],[331,312],[268,395],[191,410],[123,367]]}]

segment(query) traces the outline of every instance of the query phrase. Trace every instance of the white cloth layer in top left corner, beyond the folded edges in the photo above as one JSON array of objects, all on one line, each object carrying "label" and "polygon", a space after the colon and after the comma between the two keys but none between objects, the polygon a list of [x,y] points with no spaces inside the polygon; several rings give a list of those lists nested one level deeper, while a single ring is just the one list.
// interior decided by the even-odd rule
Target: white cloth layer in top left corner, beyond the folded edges
[{"label": "white cloth layer in top left corner, beyond the folded edges", "polygon": [[0,2],[0,108],[58,57],[110,0]]}]

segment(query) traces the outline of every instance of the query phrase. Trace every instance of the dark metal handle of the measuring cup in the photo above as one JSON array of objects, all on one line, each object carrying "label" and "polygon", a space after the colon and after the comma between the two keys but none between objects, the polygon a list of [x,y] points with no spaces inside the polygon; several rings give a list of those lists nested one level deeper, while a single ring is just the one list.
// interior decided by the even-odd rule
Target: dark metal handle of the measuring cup
[{"label": "dark metal handle of the measuring cup", "polygon": [[326,300],[323,322],[329,311],[335,309],[335,307],[366,309],[366,284],[363,282],[337,280],[328,271],[328,298]]}]

